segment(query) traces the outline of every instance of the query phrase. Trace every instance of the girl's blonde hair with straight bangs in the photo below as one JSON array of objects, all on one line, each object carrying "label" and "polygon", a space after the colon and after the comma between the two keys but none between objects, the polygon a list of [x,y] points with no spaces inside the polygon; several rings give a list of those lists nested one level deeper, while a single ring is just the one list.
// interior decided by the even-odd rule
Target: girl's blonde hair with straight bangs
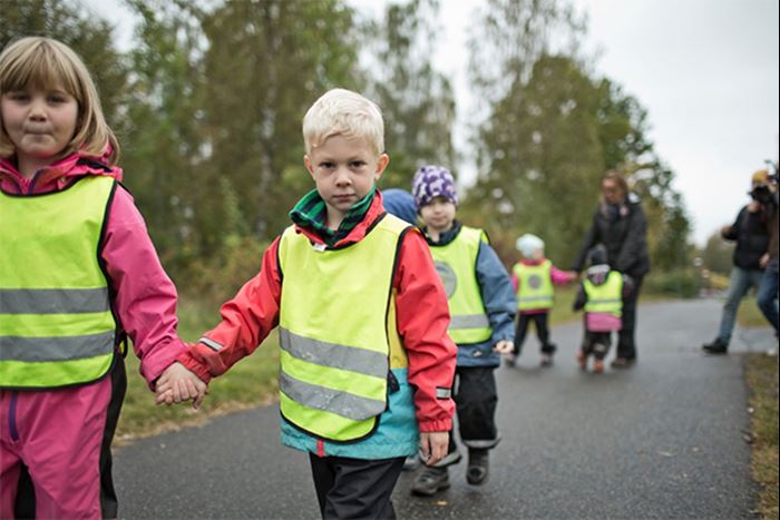
[{"label": "girl's blonde hair with straight bangs", "polygon": [[[27,37],[9,43],[0,53],[0,96],[27,88],[62,88],[78,102],[72,139],[62,150],[65,157],[76,150],[116,164],[119,144],[106,124],[95,82],[87,67],[68,46],[51,38]],[[0,157],[16,153],[0,120]]]}]

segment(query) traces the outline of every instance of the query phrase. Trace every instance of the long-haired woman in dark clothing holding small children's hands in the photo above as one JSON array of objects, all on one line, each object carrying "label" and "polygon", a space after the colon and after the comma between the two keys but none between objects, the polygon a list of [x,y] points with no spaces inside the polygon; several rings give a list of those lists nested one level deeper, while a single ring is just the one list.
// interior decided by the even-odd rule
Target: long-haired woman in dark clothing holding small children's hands
[{"label": "long-haired woman in dark clothing holding small children's hands", "polygon": [[620,171],[607,171],[602,177],[601,204],[573,268],[582,273],[591,248],[603,244],[610,267],[634,281],[634,290],[623,300],[622,328],[613,369],[627,369],[636,362],[636,302],[642,278],[650,271],[646,235],[647,220],[638,197],[628,193],[628,185]]}]

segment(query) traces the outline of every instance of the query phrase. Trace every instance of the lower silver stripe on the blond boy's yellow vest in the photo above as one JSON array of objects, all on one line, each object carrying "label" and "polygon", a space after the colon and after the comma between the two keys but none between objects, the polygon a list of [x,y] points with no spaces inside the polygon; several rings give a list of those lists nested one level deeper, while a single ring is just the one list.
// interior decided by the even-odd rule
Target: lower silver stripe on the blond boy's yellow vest
[{"label": "lower silver stripe on the blond boy's yellow vest", "polygon": [[279,374],[279,390],[304,406],[335,413],[353,421],[371,419],[381,414],[386,409],[384,401],[304,383],[284,371]]}]

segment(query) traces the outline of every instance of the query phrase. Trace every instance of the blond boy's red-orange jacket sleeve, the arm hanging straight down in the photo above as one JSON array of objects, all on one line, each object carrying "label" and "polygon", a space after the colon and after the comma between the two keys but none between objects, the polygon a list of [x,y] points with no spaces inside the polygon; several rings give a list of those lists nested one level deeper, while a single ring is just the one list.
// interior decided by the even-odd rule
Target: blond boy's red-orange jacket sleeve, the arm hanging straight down
[{"label": "blond boy's red-orange jacket sleeve, the arm hanging straight down", "polygon": [[449,396],[458,349],[447,335],[449,308],[441,278],[419,232],[408,232],[396,274],[398,332],[409,359],[421,432],[449,431],[455,403]]}]

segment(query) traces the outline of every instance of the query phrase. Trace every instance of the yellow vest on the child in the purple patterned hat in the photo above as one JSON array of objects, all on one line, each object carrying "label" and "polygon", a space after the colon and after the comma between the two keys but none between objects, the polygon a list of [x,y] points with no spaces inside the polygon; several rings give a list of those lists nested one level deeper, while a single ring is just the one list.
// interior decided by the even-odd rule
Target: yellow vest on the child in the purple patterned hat
[{"label": "yellow vest on the child in the purple patterned hat", "polygon": [[447,333],[457,344],[481,343],[493,335],[476,275],[482,241],[487,238],[481,229],[462,226],[449,244],[430,247],[447,292],[450,312]]}]

